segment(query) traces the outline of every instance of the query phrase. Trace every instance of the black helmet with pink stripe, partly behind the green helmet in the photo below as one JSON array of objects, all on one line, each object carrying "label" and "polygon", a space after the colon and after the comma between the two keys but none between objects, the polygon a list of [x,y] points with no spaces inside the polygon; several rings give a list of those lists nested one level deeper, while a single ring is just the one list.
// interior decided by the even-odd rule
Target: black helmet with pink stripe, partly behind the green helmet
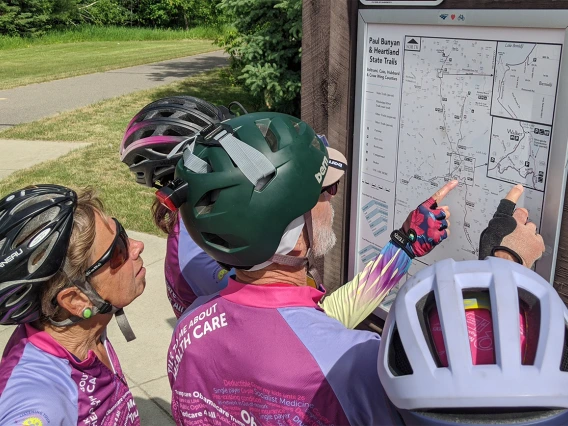
[{"label": "black helmet with pink stripe, partly behind the green helmet", "polygon": [[146,105],[130,121],[120,145],[120,160],[136,182],[161,187],[173,179],[181,150],[168,154],[180,142],[203,128],[231,118],[228,108],[192,96],[172,96]]}]

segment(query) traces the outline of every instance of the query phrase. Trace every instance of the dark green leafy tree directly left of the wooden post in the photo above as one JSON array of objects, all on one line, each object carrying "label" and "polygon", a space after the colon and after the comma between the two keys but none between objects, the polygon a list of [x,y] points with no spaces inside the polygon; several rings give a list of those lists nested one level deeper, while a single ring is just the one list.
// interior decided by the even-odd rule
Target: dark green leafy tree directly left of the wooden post
[{"label": "dark green leafy tree directly left of the wooden post", "polygon": [[220,43],[237,82],[268,109],[300,115],[302,0],[221,0],[235,30]]}]

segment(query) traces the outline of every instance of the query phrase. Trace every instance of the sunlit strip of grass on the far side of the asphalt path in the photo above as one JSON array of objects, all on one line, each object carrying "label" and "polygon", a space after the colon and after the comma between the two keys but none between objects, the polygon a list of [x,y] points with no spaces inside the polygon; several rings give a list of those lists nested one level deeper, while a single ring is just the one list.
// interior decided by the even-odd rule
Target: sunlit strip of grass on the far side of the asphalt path
[{"label": "sunlit strip of grass on the far side of the asphalt path", "polygon": [[211,40],[89,41],[0,50],[0,90],[218,50]]}]

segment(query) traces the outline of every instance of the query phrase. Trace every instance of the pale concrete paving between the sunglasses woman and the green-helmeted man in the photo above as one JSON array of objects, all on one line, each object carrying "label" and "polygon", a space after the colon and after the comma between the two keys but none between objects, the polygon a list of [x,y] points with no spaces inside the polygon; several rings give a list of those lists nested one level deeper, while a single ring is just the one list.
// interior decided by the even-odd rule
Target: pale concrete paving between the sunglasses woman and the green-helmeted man
[{"label": "pale concrete paving between the sunglasses woman and the green-helmeted man", "polygon": [[[170,415],[171,390],[166,372],[166,355],[176,323],[164,281],[166,239],[127,232],[131,238],[144,242],[146,289],[124,309],[136,340],[127,343],[114,319],[109,324],[108,336],[136,399],[142,426],[175,425]],[[0,327],[0,350],[4,350],[13,330],[14,327]]]}]

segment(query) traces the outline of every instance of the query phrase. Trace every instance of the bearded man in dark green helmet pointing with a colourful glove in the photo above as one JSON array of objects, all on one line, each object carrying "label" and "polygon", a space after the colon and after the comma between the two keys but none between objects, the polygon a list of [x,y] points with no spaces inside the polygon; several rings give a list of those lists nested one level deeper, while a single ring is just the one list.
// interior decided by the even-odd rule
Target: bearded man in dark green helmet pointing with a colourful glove
[{"label": "bearded man in dark green helmet pointing with a colourful glove", "polygon": [[[181,206],[196,244],[236,279],[178,321],[168,355],[178,424],[380,424],[378,336],[326,315],[324,293],[306,285],[308,272],[321,283],[313,260],[334,243],[332,160],[306,123],[278,113],[225,121],[184,149],[162,200]],[[409,215],[343,300],[380,303],[447,237],[438,203],[456,185]]]}]

